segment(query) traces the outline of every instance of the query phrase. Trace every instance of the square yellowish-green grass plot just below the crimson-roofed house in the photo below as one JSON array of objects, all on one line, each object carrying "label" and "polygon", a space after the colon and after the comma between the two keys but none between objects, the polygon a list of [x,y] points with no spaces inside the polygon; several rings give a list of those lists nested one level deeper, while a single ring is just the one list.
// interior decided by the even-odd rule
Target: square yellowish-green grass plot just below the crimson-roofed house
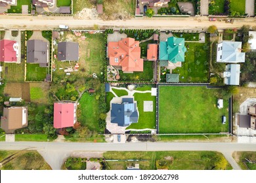
[{"label": "square yellowish-green grass plot just below the crimson-roofed house", "polygon": [[7,81],[24,82],[25,63],[3,63],[3,73],[1,75]]}]

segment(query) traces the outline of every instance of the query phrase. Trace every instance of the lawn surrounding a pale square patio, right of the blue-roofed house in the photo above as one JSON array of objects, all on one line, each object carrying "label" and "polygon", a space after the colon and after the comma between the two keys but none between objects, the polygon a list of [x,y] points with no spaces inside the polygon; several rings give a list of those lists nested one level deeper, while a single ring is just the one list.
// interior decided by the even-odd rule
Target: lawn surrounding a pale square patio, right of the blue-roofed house
[{"label": "lawn surrounding a pale square patio, right of the blue-roofed house", "polygon": [[[151,93],[135,93],[134,97],[139,110],[139,121],[129,125],[127,129],[156,129],[156,97],[151,96]],[[144,101],[153,101],[153,112],[143,112]]]}]

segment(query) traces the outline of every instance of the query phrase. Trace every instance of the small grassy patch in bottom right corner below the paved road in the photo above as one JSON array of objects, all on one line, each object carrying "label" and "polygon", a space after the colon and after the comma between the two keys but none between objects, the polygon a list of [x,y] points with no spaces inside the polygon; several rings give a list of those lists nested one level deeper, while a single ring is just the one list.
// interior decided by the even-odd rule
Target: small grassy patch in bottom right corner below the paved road
[{"label": "small grassy patch in bottom right corner below the paved road", "polygon": [[[247,167],[244,165],[243,161],[247,161],[246,159],[250,159],[251,161],[256,161],[256,152],[234,152],[232,154],[233,158],[236,159],[236,162],[238,162],[238,165],[243,170],[247,170],[247,167],[249,170],[256,170],[256,163],[249,163],[246,162],[245,164]],[[246,159],[245,159],[246,158]]]}]

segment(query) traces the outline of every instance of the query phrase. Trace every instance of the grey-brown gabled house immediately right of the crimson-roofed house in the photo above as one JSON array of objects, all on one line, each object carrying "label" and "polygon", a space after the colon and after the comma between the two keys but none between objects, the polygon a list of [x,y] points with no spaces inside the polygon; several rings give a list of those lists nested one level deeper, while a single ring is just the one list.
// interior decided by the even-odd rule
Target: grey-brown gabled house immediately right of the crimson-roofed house
[{"label": "grey-brown gabled house immediately right of the crimson-roofed house", "polygon": [[27,63],[39,63],[40,67],[48,67],[49,47],[47,42],[29,40],[27,42]]}]

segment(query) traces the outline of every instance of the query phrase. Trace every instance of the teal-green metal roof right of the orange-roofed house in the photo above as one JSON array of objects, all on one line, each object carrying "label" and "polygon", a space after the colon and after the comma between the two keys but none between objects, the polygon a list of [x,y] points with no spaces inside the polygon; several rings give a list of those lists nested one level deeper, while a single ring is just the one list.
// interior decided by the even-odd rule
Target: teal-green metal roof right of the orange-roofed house
[{"label": "teal-green metal roof right of the orange-roofed house", "polygon": [[169,60],[173,63],[185,61],[185,39],[178,37],[169,37],[167,41],[160,42],[159,59]]}]

